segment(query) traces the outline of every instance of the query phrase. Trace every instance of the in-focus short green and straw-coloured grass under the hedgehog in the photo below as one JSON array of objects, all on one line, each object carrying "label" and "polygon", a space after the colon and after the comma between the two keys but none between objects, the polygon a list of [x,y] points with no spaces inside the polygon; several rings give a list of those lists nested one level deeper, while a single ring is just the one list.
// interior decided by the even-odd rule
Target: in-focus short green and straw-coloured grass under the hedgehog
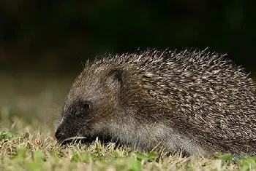
[{"label": "in-focus short green and straw-coloured grass under the hedgehog", "polygon": [[98,140],[59,146],[52,127],[30,123],[15,118],[0,131],[0,170],[256,170],[256,157],[233,161],[229,154],[214,159],[144,154]]}]

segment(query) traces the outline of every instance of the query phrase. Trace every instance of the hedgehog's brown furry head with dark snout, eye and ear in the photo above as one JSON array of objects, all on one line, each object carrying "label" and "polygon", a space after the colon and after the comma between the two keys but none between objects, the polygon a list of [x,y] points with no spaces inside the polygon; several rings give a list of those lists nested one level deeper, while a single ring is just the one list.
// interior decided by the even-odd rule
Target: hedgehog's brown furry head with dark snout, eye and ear
[{"label": "hedgehog's brown furry head with dark snout, eye and ear", "polygon": [[107,125],[116,120],[116,113],[124,113],[118,103],[124,81],[124,71],[118,68],[86,67],[67,95],[57,140],[107,137]]}]

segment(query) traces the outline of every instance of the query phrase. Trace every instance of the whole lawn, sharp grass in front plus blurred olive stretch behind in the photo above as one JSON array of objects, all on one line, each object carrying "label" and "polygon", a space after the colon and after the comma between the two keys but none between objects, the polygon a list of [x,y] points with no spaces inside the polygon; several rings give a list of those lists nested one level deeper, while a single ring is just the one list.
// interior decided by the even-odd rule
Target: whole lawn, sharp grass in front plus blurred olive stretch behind
[{"label": "whole lawn, sharp grass in front plus blurred olive stretch behind", "polygon": [[256,156],[182,158],[98,140],[60,146],[54,131],[74,78],[43,77],[0,76],[0,170],[256,170]]}]

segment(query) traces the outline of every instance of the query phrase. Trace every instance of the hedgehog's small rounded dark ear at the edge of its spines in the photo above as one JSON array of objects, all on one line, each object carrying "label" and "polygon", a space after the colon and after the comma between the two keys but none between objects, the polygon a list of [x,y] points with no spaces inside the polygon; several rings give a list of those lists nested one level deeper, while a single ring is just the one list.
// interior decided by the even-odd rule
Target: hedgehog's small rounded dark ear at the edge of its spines
[{"label": "hedgehog's small rounded dark ear at the edge of its spines", "polygon": [[121,89],[124,86],[125,74],[121,69],[113,69],[108,73],[108,84],[111,88]]}]

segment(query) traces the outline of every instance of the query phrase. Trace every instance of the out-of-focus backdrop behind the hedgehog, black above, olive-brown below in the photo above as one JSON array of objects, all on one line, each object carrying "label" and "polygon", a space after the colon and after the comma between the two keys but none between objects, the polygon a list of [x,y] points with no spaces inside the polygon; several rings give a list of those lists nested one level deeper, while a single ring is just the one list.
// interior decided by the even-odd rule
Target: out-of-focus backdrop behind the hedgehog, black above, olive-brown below
[{"label": "out-of-focus backdrop behind the hedgehog, black above, olive-brown below", "polygon": [[1,0],[2,115],[58,113],[45,108],[64,102],[81,60],[104,52],[208,47],[255,74],[255,10],[243,0]]}]

